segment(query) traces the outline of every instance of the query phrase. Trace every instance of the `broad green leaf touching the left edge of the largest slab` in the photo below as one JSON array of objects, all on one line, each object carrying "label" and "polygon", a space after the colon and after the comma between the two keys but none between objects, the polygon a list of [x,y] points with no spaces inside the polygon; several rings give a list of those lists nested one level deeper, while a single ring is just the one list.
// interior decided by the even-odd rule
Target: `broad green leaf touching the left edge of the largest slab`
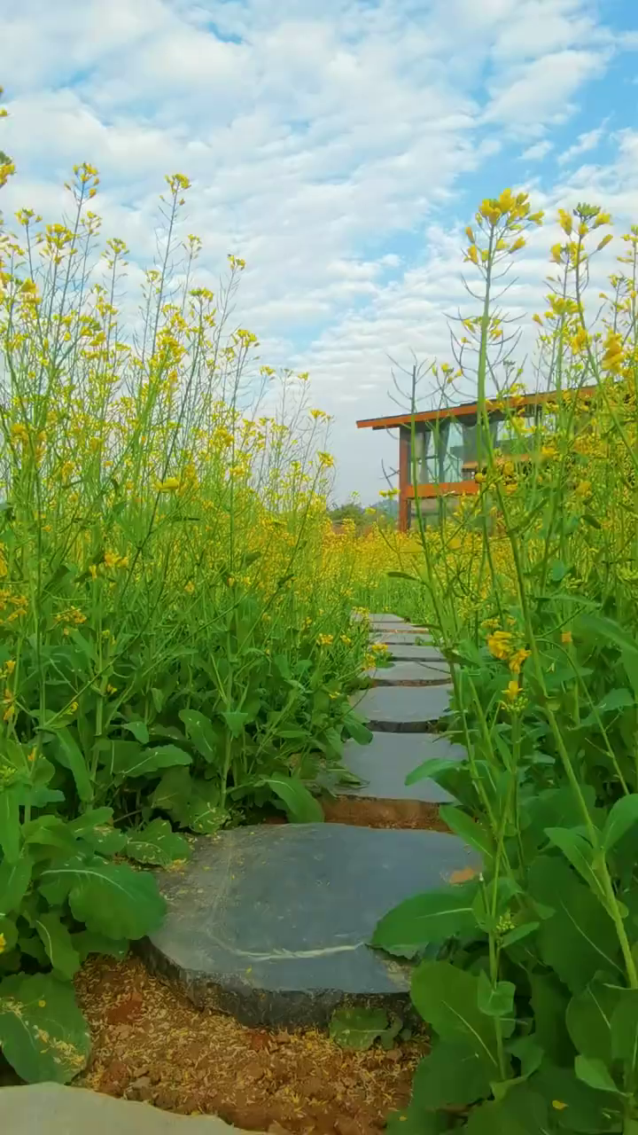
[{"label": "broad green leaf touching the left edge of the largest slab", "polygon": [[[42,872],[44,897],[68,891],[75,918],[86,928],[112,939],[140,939],[158,930],[166,913],[154,878],[125,864],[79,857]],[[49,890],[50,888],[50,890]]]}]

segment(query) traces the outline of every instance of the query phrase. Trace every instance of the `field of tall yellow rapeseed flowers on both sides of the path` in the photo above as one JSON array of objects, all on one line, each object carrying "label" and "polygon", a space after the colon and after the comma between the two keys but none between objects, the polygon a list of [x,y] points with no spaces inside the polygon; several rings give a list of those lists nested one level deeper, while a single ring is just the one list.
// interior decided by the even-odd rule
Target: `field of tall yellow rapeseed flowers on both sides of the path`
[{"label": "field of tall yellow rapeseed flowers on both sides of the path", "polygon": [[167,178],[137,288],[102,239],[98,184],[79,166],[64,222],[24,210],[0,229],[5,1058],[27,1081],[85,1065],[73,977],[161,922],[143,866],[187,857],[190,833],[322,818],[321,768],[368,739],[349,695],[373,654],[352,613],[395,611],[451,663],[468,759],[415,775],[456,798],[451,826],[484,868],[377,928],[420,959],[433,1029],[391,1129],[636,1135],[638,228],[591,320],[610,218],[561,211],[535,317],[553,401],[529,426],[497,293],[543,217],[510,191],[482,203],[479,308],[445,371],[476,360],[479,493],[436,524],[358,535],[327,515],[308,376],[261,363],[235,326],[243,261],[215,293],[198,284],[186,178]]}]

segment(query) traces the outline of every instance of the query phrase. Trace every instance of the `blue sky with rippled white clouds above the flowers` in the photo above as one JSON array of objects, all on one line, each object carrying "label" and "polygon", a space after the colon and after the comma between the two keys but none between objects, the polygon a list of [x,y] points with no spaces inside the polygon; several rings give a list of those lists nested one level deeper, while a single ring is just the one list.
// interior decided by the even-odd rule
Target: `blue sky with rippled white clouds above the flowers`
[{"label": "blue sky with rippled white clouds above the flowers", "polygon": [[[90,161],[106,234],[146,264],[163,175],[186,174],[203,269],[246,259],[238,322],[334,415],[341,498],[373,501],[392,463],[355,428],[396,412],[389,360],[450,359],[484,196],[638,222],[636,0],[0,0],[0,44],[5,215],[57,219]],[[520,267],[523,325],[552,236]]]}]

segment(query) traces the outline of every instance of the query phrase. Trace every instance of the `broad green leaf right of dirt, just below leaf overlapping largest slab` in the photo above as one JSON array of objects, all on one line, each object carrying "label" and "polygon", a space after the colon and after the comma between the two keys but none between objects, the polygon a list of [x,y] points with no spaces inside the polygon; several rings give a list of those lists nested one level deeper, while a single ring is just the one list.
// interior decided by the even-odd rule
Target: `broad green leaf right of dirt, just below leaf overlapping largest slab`
[{"label": "broad green leaf right of dirt, just below leaf overlapping largest slab", "polygon": [[478,1007],[478,977],[448,961],[421,961],[412,975],[412,1001],[446,1041],[469,1045],[498,1075],[496,1023]]}]

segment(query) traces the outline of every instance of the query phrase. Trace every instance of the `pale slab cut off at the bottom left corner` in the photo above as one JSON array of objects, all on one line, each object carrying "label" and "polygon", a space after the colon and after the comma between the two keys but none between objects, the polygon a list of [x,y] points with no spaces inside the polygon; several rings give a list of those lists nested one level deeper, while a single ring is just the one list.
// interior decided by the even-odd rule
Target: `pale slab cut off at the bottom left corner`
[{"label": "pale slab cut off at the bottom left corner", "polygon": [[11,1135],[233,1135],[215,1116],[174,1116],[84,1087],[32,1084],[0,1090],[0,1128]]}]

